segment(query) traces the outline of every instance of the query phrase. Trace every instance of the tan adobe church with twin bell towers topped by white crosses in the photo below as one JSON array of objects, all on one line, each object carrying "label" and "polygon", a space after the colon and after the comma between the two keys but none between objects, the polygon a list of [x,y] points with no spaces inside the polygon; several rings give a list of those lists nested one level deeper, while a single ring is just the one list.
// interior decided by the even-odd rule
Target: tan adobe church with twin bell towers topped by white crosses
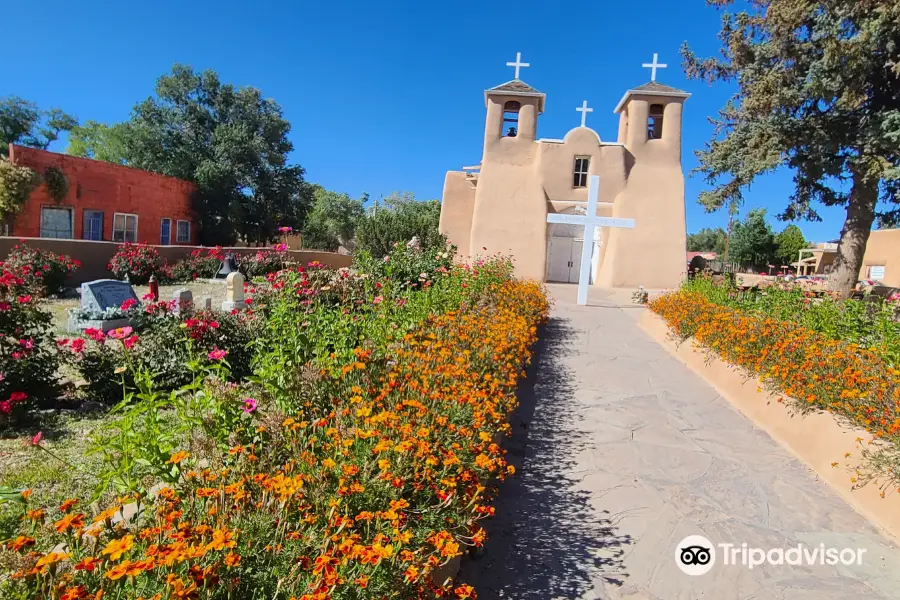
[{"label": "tan adobe church with twin bell towers topped by white crosses", "polygon": [[598,227],[590,283],[673,288],[686,271],[681,113],[690,94],[651,81],[625,92],[615,107],[619,134],[605,142],[585,126],[563,139],[537,139],[546,94],[519,79],[484,92],[487,120],[481,164],[448,171],[440,230],[462,258],[507,254],[520,277],[577,283],[584,227],[547,223],[551,213],[586,210],[588,180],[600,176],[597,216],[631,218],[634,229]]}]

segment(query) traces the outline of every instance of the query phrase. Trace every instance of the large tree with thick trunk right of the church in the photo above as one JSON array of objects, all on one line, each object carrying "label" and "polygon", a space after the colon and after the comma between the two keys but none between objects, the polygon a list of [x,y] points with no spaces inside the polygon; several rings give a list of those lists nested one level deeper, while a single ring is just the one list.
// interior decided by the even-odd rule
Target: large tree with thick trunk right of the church
[{"label": "large tree with thick trunk right of the church", "polygon": [[698,152],[715,185],[700,201],[740,202],[758,175],[788,166],[794,191],[781,217],[819,220],[815,202],[846,208],[829,285],[847,295],[875,219],[900,217],[900,2],[739,4],[722,17],[722,58],[682,48],[689,76],[737,84]]}]

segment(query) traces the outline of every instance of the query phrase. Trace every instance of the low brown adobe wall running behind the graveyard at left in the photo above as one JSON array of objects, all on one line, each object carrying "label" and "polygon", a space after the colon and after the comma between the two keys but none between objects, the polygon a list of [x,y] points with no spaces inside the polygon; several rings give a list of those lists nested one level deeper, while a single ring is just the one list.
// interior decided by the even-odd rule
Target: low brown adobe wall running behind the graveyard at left
[{"label": "low brown adobe wall running behind the graveyard at left", "polygon": [[[73,273],[67,285],[77,286],[85,281],[94,279],[106,279],[111,277],[106,265],[121,246],[115,242],[92,242],[88,240],[57,240],[50,238],[20,238],[20,237],[0,237],[0,260],[6,258],[13,246],[19,243],[26,243],[32,248],[41,248],[50,250],[57,254],[67,254],[72,258],[81,262],[81,268]],[[189,256],[191,252],[197,250],[209,250],[203,246],[154,246],[160,256],[165,258],[170,264]],[[238,255],[255,254],[258,250],[265,248],[225,248],[226,252],[233,252]],[[288,250],[287,254],[302,264],[318,261],[323,265],[333,269],[349,267],[352,258],[345,254],[337,254],[334,252],[320,252],[316,250]]]}]

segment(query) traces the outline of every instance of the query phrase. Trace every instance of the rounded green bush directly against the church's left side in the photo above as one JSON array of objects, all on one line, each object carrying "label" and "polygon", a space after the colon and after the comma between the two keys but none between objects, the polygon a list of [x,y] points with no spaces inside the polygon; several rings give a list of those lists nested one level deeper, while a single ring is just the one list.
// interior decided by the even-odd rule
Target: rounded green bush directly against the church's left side
[{"label": "rounded green bush directly against the church's left side", "polygon": [[370,211],[356,229],[357,247],[372,256],[391,253],[395,243],[419,238],[423,248],[446,246],[446,238],[438,231],[441,204],[437,200],[417,201],[409,192],[394,193],[385,198],[384,207]]}]

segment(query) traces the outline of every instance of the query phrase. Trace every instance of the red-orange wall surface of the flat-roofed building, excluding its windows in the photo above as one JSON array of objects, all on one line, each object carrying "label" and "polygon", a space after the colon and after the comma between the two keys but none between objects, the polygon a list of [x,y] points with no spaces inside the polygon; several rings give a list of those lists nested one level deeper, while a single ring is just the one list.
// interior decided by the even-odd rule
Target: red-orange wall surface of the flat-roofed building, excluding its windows
[{"label": "red-orange wall surface of the flat-roofed building, excluding its windows", "polygon": [[123,167],[99,160],[78,158],[34,148],[10,144],[10,160],[19,166],[30,167],[43,174],[47,167],[61,169],[69,181],[68,196],[61,202],[50,197],[41,184],[32,194],[12,223],[12,235],[16,237],[40,237],[41,209],[71,208],[74,239],[84,239],[85,211],[103,213],[102,239],[113,239],[113,215],[136,214],[137,241],[147,244],[160,243],[163,218],[171,219],[171,244],[176,245],[178,220],[190,225],[190,240],[184,245],[195,245],[198,240],[196,219],[191,211],[191,183],[157,175],[140,169]]}]

